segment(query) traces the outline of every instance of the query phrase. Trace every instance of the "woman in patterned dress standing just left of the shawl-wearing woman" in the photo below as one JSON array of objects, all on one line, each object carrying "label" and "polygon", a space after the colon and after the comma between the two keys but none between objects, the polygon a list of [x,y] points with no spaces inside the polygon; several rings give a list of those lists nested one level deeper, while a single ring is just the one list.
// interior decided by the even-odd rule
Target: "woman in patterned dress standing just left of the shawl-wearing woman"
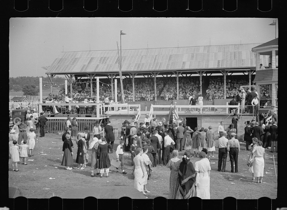
[{"label": "woman in patterned dress standing just left of the shawl-wearing woman", "polygon": [[180,199],[179,192],[179,165],[181,159],[178,158],[179,151],[177,149],[172,151],[172,158],[168,161],[166,167],[170,169],[169,176],[169,199]]}]

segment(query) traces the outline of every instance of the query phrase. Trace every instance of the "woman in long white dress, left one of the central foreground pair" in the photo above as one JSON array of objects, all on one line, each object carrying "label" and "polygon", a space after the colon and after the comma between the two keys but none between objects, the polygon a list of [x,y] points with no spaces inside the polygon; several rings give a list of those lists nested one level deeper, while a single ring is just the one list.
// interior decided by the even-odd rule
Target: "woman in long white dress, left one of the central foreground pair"
[{"label": "woman in long white dress, left one of the central foreground pair", "polygon": [[143,153],[142,148],[137,148],[135,150],[135,158],[133,159],[135,163],[135,170],[134,170],[134,175],[135,175],[135,188],[139,191],[142,192],[144,195],[146,194],[144,192],[144,184],[145,181],[143,180],[145,177],[146,173],[146,167],[144,166],[144,159],[141,157],[141,154]]}]

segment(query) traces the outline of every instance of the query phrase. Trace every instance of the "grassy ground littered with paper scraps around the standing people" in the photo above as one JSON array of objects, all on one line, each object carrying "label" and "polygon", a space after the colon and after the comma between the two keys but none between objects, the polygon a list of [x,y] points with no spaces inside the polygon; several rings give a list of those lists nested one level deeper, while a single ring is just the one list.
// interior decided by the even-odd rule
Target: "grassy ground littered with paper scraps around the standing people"
[{"label": "grassy ground littered with paper scraps around the standing people", "polygon": [[[37,134],[36,134],[37,135]],[[130,154],[125,155],[125,166],[127,174],[115,173],[115,167],[111,166],[109,178],[91,177],[90,163],[91,151],[89,151],[90,160],[84,170],[72,169],[65,170],[61,166],[62,146],[61,135],[47,133],[45,137],[39,138],[33,151],[34,156],[28,159],[28,165],[18,164],[19,172],[12,171],[11,159],[9,159],[9,186],[19,187],[26,198],[50,198],[53,196],[61,196],[66,190],[73,188],[84,188],[92,186],[134,186],[133,175],[131,174],[131,157]],[[57,142],[57,143],[52,143]],[[119,140],[115,141],[114,149],[119,144]],[[277,197],[277,178],[274,172],[274,164],[272,154],[275,156],[277,169],[277,153],[266,151],[266,169],[265,177],[262,184],[255,184],[251,181],[252,174],[247,170],[247,160],[249,151],[245,150],[245,143],[241,142],[241,151],[238,157],[238,173],[230,172],[229,156],[226,161],[226,172],[217,171],[218,149],[215,157],[211,158],[211,178],[210,178],[210,198],[223,199],[232,196],[236,199],[258,199],[260,197],[269,197],[275,199]],[[43,152],[43,153],[40,153]],[[76,159],[77,145],[73,148],[73,158]],[[127,154],[127,152],[125,152]],[[41,155],[47,154],[47,155]],[[115,152],[109,154],[110,159],[115,158]],[[180,152],[182,158],[183,152]],[[58,159],[58,160],[57,160]],[[199,158],[192,157],[192,163],[198,161]],[[22,162],[22,160],[20,159]],[[76,163],[75,165],[76,166]],[[55,168],[57,167],[57,168]],[[271,168],[271,169],[270,169]],[[268,172],[265,173],[265,172]],[[147,189],[151,191],[147,193],[149,199],[157,196],[168,198],[169,194],[169,175],[170,170],[164,166],[153,168],[152,177],[148,180]],[[49,180],[49,178],[55,178]],[[88,185],[88,183],[92,183]],[[232,184],[234,183],[234,184]],[[49,188],[48,190],[44,188]]]}]

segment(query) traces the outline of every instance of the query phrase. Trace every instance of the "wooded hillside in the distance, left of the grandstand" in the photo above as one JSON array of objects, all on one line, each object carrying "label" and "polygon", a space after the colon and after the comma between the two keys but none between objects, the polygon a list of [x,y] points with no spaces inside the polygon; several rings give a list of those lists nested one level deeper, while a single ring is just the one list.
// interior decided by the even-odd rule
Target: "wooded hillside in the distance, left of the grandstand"
[{"label": "wooded hillside in the distance, left of the grandstand", "polygon": [[[42,76],[42,82],[50,82],[48,77]],[[53,83],[65,83],[65,78],[56,76],[53,78]],[[45,84],[45,83],[44,83]],[[49,89],[50,84],[44,86],[42,89]],[[9,77],[10,91],[23,91],[24,95],[38,95],[39,93],[39,77],[21,76]]]}]

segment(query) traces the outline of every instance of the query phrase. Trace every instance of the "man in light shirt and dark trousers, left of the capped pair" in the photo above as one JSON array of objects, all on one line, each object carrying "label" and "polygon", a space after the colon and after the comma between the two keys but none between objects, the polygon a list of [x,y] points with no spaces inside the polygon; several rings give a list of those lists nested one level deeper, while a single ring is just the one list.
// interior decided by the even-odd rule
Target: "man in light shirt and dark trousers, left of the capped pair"
[{"label": "man in light shirt and dark trousers, left of the capped pair", "polygon": [[222,137],[218,139],[218,169],[217,171],[225,172],[226,167],[226,157],[227,157],[227,143],[228,139],[226,138],[226,131],[222,132]]}]

